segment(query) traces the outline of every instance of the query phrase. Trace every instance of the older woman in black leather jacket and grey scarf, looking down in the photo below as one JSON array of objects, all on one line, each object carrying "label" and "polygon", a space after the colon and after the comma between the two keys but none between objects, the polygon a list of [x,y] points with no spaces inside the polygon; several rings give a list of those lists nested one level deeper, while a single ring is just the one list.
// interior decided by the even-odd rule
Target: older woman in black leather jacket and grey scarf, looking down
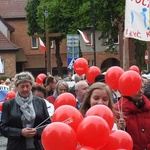
[{"label": "older woman in black leather jacket and grey scarf, looking down", "polygon": [[16,74],[14,83],[16,97],[3,103],[1,133],[8,138],[7,150],[37,150],[41,132],[51,122],[45,101],[32,95],[31,73]]}]

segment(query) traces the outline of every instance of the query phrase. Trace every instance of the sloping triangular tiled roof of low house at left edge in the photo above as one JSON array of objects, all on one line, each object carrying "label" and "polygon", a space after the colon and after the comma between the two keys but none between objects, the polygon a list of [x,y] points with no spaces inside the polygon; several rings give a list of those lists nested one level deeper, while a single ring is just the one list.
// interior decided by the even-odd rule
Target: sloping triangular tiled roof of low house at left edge
[{"label": "sloping triangular tiled roof of low house at left edge", "polygon": [[0,50],[18,50],[19,48],[9,41],[0,31]]}]

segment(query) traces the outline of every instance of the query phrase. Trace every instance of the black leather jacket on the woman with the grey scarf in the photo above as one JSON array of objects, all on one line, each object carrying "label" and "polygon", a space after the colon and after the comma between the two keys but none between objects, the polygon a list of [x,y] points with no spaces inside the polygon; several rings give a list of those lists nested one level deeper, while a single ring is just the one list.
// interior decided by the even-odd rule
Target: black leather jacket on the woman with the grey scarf
[{"label": "black leather jacket on the woman with the grey scarf", "polygon": [[[49,114],[47,112],[45,101],[41,98],[33,98],[33,107],[36,114],[34,127],[36,127],[45,119],[47,119],[49,117]],[[3,136],[8,138],[7,150],[26,149],[25,137],[21,135],[21,130],[23,128],[21,116],[22,112],[20,111],[20,107],[15,102],[15,99],[3,103],[1,133]],[[50,122],[50,119],[48,119],[42,125],[49,124]],[[38,138],[40,138],[41,132],[42,131],[40,130],[38,131]]]}]

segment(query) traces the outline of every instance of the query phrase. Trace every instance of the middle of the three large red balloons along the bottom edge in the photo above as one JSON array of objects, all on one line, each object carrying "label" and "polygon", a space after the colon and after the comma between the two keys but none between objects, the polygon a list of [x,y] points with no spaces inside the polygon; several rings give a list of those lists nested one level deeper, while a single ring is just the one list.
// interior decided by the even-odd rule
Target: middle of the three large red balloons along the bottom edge
[{"label": "middle of the three large red balloons along the bottom edge", "polygon": [[79,124],[77,138],[81,146],[97,149],[106,144],[109,133],[109,126],[103,118],[88,116]]}]

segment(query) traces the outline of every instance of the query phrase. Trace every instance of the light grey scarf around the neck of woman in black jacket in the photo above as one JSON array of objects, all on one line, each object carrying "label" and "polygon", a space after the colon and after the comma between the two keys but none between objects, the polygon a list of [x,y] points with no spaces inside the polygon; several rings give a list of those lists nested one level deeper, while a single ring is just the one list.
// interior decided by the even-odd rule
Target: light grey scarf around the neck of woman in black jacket
[{"label": "light grey scarf around the neck of woman in black jacket", "polygon": [[22,122],[29,122],[31,123],[31,120],[35,119],[35,111],[32,104],[33,95],[32,92],[30,92],[30,95],[28,98],[23,98],[19,95],[19,93],[16,93],[15,101],[20,106],[20,110],[22,111]]}]

